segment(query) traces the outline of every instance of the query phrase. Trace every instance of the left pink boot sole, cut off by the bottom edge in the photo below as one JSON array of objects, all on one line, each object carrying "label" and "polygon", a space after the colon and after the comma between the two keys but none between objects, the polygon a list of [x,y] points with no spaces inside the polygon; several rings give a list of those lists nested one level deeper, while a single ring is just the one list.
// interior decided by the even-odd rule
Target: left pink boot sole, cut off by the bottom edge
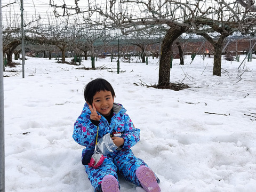
[{"label": "left pink boot sole, cut off by the bottom edge", "polygon": [[120,192],[118,181],[113,175],[106,175],[101,183],[102,192]]}]

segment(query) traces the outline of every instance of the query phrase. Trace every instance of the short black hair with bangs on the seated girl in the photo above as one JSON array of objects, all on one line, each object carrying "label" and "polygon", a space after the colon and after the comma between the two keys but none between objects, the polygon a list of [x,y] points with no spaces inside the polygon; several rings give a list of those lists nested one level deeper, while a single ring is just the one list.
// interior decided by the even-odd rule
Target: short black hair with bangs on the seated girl
[{"label": "short black hair with bangs on the seated girl", "polygon": [[115,91],[111,84],[107,82],[105,79],[97,78],[93,81],[89,82],[84,89],[84,99],[87,103],[92,105],[93,96],[100,91],[110,91],[112,97],[116,97]]}]

